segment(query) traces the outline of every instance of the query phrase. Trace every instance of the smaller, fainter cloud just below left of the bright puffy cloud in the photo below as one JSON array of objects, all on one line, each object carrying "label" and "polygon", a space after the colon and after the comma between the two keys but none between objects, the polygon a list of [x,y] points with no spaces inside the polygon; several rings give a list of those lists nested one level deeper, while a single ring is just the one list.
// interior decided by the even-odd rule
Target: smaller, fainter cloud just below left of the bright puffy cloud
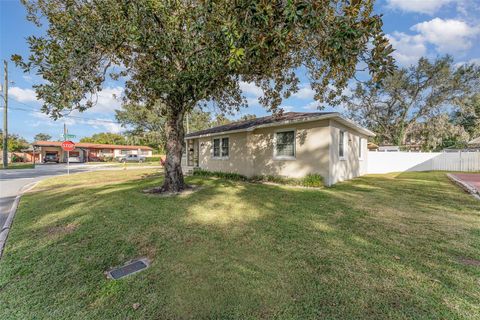
[{"label": "smaller, fainter cloud just below left of the bright puffy cloud", "polygon": [[427,54],[425,39],[420,35],[394,32],[388,34],[387,38],[395,48],[393,57],[402,66],[411,65]]}]

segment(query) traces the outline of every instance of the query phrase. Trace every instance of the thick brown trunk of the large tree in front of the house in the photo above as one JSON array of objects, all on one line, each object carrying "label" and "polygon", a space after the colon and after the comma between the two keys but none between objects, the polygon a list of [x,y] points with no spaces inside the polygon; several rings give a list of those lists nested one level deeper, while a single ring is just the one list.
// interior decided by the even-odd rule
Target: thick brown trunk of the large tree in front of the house
[{"label": "thick brown trunk of the large tree in front of the house", "polygon": [[165,161],[165,180],[159,192],[180,192],[185,189],[182,172],[182,154],[185,132],[183,111],[172,111],[167,115],[165,134],[167,137]]}]

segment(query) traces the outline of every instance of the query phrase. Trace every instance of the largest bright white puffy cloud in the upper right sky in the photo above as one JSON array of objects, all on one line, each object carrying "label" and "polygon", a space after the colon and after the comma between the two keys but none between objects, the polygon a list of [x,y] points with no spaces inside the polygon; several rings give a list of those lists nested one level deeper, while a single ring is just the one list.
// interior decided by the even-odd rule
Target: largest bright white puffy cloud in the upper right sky
[{"label": "largest bright white puffy cloud in the upper right sky", "polygon": [[464,21],[441,18],[418,23],[411,30],[417,31],[424,41],[435,45],[440,53],[469,49],[480,32],[480,28],[470,26]]}]

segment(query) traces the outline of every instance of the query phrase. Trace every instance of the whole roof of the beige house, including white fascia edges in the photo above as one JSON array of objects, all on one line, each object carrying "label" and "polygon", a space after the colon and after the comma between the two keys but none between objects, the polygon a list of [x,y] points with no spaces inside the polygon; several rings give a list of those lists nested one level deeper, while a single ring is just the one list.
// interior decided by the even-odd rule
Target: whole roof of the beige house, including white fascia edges
[{"label": "whole roof of the beige house, including white fascia edges", "polygon": [[270,126],[280,126],[290,123],[302,123],[322,119],[335,119],[343,125],[353,128],[365,135],[375,136],[375,133],[365,129],[356,123],[343,118],[338,112],[285,112],[282,115],[270,115],[261,118],[255,118],[251,120],[236,121],[229,124],[225,124],[218,127],[213,127],[205,130],[200,130],[187,134],[185,137],[196,138],[219,135],[225,132],[242,132],[253,131],[257,128],[264,128]]}]

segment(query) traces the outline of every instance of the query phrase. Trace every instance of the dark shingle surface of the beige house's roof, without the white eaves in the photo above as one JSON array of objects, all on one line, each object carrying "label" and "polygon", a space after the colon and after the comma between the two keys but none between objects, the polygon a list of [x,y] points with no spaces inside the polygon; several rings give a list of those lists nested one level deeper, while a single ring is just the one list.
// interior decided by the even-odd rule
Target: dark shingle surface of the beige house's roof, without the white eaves
[{"label": "dark shingle surface of the beige house's roof, without the white eaves", "polygon": [[186,137],[190,138],[190,137],[203,136],[203,135],[214,134],[214,133],[246,130],[246,129],[252,129],[261,125],[275,123],[275,122],[301,121],[301,120],[307,120],[309,118],[324,116],[327,114],[336,114],[336,112],[285,112],[282,115],[278,115],[278,116],[271,115],[271,116],[255,118],[251,120],[236,121],[229,124],[225,124],[223,126],[218,126],[218,127],[213,127],[205,130],[192,132],[187,134]]}]

